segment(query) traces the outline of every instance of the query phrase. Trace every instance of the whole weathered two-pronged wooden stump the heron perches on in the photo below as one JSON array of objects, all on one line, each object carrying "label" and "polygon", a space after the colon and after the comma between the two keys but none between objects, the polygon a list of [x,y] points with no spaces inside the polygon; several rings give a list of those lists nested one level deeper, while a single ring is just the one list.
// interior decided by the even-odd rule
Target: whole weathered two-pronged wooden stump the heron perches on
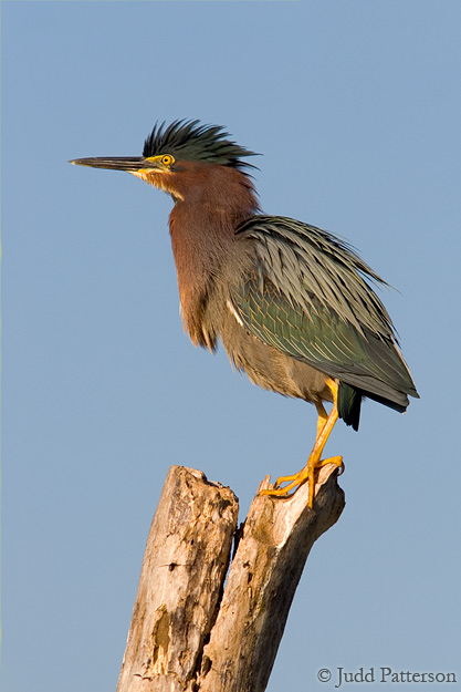
[{"label": "whole weathered two-pronged wooden stump the heron perches on", "polygon": [[235,534],[232,490],[171,466],[117,692],[263,692],[308,552],[343,512],[336,477],[333,464],[321,468],[312,509],[307,484],[286,499],[256,496]]}]

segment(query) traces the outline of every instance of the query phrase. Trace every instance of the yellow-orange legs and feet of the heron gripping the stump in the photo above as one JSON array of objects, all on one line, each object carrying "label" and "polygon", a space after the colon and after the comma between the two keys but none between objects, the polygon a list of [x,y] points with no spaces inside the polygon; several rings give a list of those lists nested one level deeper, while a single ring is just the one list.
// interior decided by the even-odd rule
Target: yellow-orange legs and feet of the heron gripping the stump
[{"label": "yellow-orange legs and feet of the heron gripping the stump", "polygon": [[[294,476],[281,476],[277,478],[274,489],[265,489],[261,492],[261,495],[275,495],[275,496],[286,496],[290,490],[294,487],[300,486],[305,481],[308,481],[308,506],[312,507],[314,500],[314,475],[315,469],[325,466],[326,464],[336,464],[336,466],[343,465],[343,457],[340,456],[332,456],[331,458],[321,461],[321,456],[323,450],[325,447],[326,441],[338,420],[338,411],[337,411],[337,392],[338,385],[334,380],[328,379],[326,381],[328,389],[333,394],[333,409],[327,415],[323,404],[316,404],[318,420],[317,420],[317,436],[315,440],[314,447],[310,454],[307,459],[307,464]],[[289,483],[285,487],[279,487],[282,483]]]}]

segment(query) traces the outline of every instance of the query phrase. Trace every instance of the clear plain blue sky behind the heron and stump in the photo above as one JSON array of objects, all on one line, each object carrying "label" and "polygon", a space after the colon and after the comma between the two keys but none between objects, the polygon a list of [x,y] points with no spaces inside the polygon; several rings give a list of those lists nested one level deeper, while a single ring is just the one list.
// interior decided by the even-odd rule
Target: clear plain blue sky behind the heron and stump
[{"label": "clear plain blue sky behind the heron and stump", "polygon": [[182,333],[170,199],[66,163],[139,155],[177,117],[262,152],[264,210],[345,236],[400,291],[383,297],[421,394],[335,430],[347,506],[270,692],[333,690],[316,672],[337,667],[460,681],[459,0],[1,10],[2,692],[115,690],[170,464],[230,485],[243,518],[313,442],[313,407]]}]

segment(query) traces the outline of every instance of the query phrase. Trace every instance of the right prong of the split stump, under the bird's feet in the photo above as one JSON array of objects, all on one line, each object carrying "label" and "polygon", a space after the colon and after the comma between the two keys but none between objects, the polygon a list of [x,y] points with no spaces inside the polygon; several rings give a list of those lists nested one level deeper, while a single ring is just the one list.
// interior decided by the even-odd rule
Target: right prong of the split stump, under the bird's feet
[{"label": "right prong of the split stump, under the bird's feet", "polygon": [[205,647],[200,692],[265,690],[308,552],[345,505],[336,476],[333,464],[321,469],[312,509],[307,484],[287,499],[254,498]]}]

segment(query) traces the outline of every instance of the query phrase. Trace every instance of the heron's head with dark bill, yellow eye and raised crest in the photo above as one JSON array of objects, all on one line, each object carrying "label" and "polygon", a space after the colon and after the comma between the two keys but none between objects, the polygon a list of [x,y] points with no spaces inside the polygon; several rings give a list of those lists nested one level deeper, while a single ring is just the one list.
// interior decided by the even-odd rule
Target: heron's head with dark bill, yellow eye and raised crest
[{"label": "heron's head with dark bill, yellow eye and raised crest", "polygon": [[[175,199],[184,199],[188,190],[219,182],[222,169],[243,172],[254,168],[242,161],[255,156],[229,140],[218,125],[200,125],[199,121],[175,121],[157,124],[144,143],[143,156],[75,158],[70,163],[93,168],[126,171],[154,185]],[[247,177],[247,176],[245,176]]]}]

